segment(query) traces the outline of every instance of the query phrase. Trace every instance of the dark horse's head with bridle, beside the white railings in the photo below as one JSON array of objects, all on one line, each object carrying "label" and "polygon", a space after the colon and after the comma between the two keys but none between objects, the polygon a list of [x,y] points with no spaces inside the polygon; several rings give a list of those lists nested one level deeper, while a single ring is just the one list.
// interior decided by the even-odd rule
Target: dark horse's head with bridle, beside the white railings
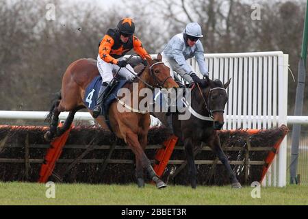
[{"label": "dark horse's head with bridle, beside the white railings", "polygon": [[224,125],[224,107],[228,101],[226,89],[231,78],[224,84],[218,79],[211,80],[209,77],[204,81],[206,88],[203,89],[203,96],[205,96],[207,111],[214,120],[214,129],[220,130]]}]

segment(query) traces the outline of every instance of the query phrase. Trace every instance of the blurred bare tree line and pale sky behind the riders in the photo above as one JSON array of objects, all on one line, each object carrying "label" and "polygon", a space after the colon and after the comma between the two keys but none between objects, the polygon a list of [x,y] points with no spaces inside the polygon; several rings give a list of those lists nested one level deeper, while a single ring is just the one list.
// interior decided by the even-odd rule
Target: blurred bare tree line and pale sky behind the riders
[{"label": "blurred bare tree line and pale sky behind the riders", "polygon": [[[46,17],[49,3],[55,5],[55,20]],[[296,77],[305,1],[259,1],[260,20],[251,19],[252,3],[127,0],[104,8],[92,1],[0,1],[0,110],[49,110],[66,67],[81,57],[96,58],[99,40],[124,16],[133,17],[136,35],[149,53],[162,51],[170,37],[196,21],[206,53],[283,51]],[[288,89],[294,96],[291,75]],[[288,105],[293,114],[294,99]]]}]

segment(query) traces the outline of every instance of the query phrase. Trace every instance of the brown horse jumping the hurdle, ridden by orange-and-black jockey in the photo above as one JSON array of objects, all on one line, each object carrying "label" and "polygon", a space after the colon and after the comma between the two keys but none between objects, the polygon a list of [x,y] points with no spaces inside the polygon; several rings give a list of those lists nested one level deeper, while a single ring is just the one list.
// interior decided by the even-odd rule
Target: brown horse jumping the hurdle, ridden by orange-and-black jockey
[{"label": "brown horse jumping the hurdle, ridden by orange-and-black jockey", "polygon": [[[152,60],[151,57],[146,58],[149,63],[146,68],[139,74],[139,77],[134,79],[138,82],[138,89],[142,88],[178,88],[179,86],[170,77],[170,69],[162,62],[162,55],[158,54],[157,59]],[[73,122],[75,113],[86,108],[83,97],[88,84],[99,75],[97,69],[97,61],[92,59],[81,59],[73,62],[68,66],[62,79],[61,94],[55,99],[49,116],[47,119],[50,123],[50,131],[45,133],[44,138],[51,140],[55,136],[61,136],[64,131],[70,127]],[[126,88],[132,90],[131,83],[125,85]],[[138,90],[138,91],[139,91]],[[131,99],[133,99],[131,92]],[[140,101],[140,98],[138,99]],[[133,101],[131,101],[133,103]],[[122,138],[129,148],[136,155],[136,179],[139,187],[144,186],[143,170],[149,172],[151,179],[156,183],[157,188],[164,188],[166,184],[157,177],[155,171],[151,166],[150,160],[146,157],[144,149],[147,144],[147,134],[149,131],[151,119],[149,112],[119,112],[118,101],[114,101],[110,105],[108,112],[110,119],[110,126],[112,131],[118,138]],[[57,128],[60,112],[68,111],[68,118],[66,119],[62,128]],[[90,111],[90,110],[89,110]],[[96,118],[97,122],[105,127],[103,116]]]}]

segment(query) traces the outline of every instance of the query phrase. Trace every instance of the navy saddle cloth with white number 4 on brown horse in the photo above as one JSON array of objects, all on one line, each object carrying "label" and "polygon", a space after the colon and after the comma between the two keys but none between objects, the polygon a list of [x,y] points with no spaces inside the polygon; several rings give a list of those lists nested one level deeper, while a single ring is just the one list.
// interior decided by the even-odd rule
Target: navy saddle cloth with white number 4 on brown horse
[{"label": "navy saddle cloth with white number 4 on brown horse", "polygon": [[[93,110],[95,105],[97,105],[97,98],[99,96],[99,88],[101,88],[102,79],[101,76],[94,77],[94,79],[91,81],[91,83],[86,88],[86,92],[84,94],[84,104],[86,107],[88,107],[90,110]],[[105,116],[105,122],[108,125],[110,131],[112,131],[110,127],[110,123],[108,120],[108,110],[110,105],[116,100],[116,94],[118,93],[118,90],[120,88],[123,88],[123,86],[127,83],[127,80],[124,79],[114,79],[112,83],[110,83],[109,86],[107,86],[103,98],[103,104],[102,104],[102,116]]]}]

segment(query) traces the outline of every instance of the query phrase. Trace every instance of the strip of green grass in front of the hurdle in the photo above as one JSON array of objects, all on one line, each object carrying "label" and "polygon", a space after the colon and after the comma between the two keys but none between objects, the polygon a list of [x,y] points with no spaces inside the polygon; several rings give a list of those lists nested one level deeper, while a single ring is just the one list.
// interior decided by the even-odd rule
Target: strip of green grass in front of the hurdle
[{"label": "strip of green grass in front of the hurdle", "polygon": [[251,198],[252,189],[55,184],[55,198],[46,198],[44,184],[0,182],[0,205],[308,205],[307,185],[261,188],[261,198]]}]

